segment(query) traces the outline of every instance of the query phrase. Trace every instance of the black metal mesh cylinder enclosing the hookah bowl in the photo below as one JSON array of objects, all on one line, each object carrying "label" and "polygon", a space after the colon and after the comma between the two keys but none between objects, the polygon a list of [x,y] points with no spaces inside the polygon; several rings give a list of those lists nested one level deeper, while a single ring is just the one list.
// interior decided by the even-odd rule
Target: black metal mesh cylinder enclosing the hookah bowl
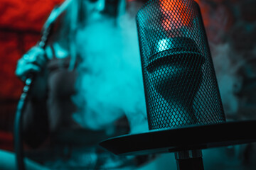
[{"label": "black metal mesh cylinder enclosing the hookah bowl", "polygon": [[198,4],[150,0],[136,21],[149,130],[225,122]]}]

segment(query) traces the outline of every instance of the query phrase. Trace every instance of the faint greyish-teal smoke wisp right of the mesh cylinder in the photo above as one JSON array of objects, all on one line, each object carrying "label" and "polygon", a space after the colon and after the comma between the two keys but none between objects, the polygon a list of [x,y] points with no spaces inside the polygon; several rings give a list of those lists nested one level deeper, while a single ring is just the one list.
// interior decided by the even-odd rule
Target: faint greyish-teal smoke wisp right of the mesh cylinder
[{"label": "faint greyish-teal smoke wisp right of the mesh cylinder", "polygon": [[226,115],[233,115],[238,112],[239,98],[235,96],[235,90],[240,89],[242,84],[237,74],[238,65],[233,62],[233,49],[228,42],[213,45],[213,62],[217,74],[220,96]]}]

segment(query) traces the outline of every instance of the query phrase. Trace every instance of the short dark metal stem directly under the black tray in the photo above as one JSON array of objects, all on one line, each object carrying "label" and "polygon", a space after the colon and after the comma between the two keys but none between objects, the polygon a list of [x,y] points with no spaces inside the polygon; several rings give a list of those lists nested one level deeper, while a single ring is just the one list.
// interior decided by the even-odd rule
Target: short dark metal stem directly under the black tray
[{"label": "short dark metal stem directly under the black tray", "polygon": [[175,153],[178,170],[203,170],[203,154],[200,149]]}]

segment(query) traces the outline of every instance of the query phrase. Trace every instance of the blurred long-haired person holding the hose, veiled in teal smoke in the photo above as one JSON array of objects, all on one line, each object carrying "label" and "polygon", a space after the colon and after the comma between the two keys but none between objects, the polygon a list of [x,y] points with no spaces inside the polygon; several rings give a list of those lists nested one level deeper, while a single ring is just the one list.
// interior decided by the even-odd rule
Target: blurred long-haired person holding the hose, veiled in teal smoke
[{"label": "blurred long-haired person holding the hose, veiled in teal smoke", "polygon": [[[18,60],[16,75],[23,81],[36,74],[23,114],[23,139],[27,147],[37,149],[26,155],[49,169],[133,169],[149,160],[117,157],[97,146],[108,137],[147,129],[142,77],[136,76],[140,62],[134,7],[142,3],[127,9],[129,14],[125,3],[73,0],[55,23],[46,49],[34,46]],[[135,45],[129,44],[134,41]],[[128,49],[134,50],[131,59],[124,55]],[[132,59],[136,60],[126,63]],[[123,74],[113,78],[113,72]],[[137,91],[131,93],[127,84],[139,90],[139,106],[131,96]],[[122,103],[132,106],[115,103],[122,91]],[[127,112],[136,115],[138,128],[135,124],[129,128]]]}]

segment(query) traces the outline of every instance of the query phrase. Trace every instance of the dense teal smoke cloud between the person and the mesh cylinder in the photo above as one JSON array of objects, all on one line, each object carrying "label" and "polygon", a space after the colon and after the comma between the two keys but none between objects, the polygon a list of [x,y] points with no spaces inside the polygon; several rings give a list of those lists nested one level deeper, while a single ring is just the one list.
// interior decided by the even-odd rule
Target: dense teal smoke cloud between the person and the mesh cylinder
[{"label": "dense teal smoke cloud between the person and the mesh cylinder", "polygon": [[98,130],[127,115],[132,132],[141,132],[148,128],[135,18],[124,15],[117,21],[102,18],[78,31],[82,63],[73,118]]}]

